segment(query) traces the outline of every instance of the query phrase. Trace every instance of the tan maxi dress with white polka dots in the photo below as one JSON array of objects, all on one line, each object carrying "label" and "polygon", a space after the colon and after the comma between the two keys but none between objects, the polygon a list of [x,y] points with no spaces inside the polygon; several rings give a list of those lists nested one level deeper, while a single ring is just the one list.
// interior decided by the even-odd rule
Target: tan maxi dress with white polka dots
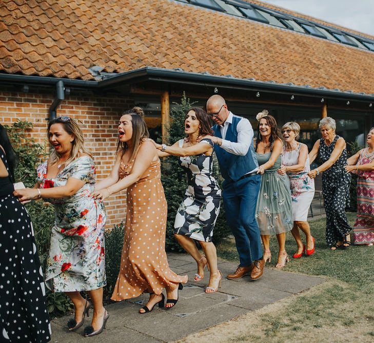
[{"label": "tan maxi dress with white polka dots", "polygon": [[[131,172],[134,160],[120,166],[120,177]],[[160,160],[152,162],[139,181],[127,188],[125,237],[120,273],[112,300],[134,298],[144,291],[160,295],[173,283],[186,283],[176,275],[165,252],[167,203],[161,184]]]}]

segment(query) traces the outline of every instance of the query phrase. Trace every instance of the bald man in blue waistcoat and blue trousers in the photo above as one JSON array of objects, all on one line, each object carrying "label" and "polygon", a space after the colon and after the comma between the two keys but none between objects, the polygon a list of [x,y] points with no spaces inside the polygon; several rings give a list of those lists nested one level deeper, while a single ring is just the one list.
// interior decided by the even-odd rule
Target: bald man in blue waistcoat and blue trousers
[{"label": "bald man in blue waistcoat and blue trousers", "polygon": [[259,279],[264,270],[260,230],[254,218],[261,176],[248,119],[233,115],[220,95],[211,96],[207,113],[214,120],[213,143],[223,178],[223,203],[227,223],[235,238],[240,264],[228,279],[250,275]]}]

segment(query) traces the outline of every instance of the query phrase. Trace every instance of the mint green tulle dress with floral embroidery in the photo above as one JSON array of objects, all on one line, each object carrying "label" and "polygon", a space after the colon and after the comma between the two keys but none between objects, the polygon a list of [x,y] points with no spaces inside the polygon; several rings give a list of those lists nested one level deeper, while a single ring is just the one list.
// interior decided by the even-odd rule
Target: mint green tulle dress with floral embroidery
[{"label": "mint green tulle dress with floral embroidery", "polygon": [[[265,164],[271,152],[257,153],[259,166]],[[255,218],[261,234],[279,234],[290,231],[293,226],[291,190],[287,175],[280,175],[281,156],[262,174]]]}]

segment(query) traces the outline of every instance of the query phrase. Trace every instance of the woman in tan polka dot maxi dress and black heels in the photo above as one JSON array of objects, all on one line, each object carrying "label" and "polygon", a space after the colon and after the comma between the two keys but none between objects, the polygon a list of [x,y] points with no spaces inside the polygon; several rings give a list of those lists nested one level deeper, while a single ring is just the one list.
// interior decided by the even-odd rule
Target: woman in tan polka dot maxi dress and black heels
[{"label": "woman in tan polka dot maxi dress and black heels", "polygon": [[150,293],[140,313],[164,305],[162,291],[166,288],[167,308],[178,301],[178,291],[187,276],[176,275],[168,265],[165,252],[167,203],[161,184],[160,159],[153,143],[146,140],[148,130],[143,111],[134,107],[119,122],[117,158],[110,176],[97,183],[96,198],[127,188],[127,213],[121,268],[112,299],[134,298]]}]

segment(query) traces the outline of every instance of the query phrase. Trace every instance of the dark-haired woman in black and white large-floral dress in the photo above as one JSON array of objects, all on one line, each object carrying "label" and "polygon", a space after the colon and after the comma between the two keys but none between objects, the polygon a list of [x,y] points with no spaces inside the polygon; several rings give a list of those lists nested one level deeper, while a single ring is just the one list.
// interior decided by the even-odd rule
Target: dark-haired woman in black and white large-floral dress
[{"label": "dark-haired woman in black and white large-floral dress", "polygon": [[[187,190],[176,213],[174,237],[198,264],[194,280],[204,278],[204,268],[209,266],[209,284],[206,293],[218,291],[222,278],[217,267],[217,252],[212,242],[215,221],[220,213],[221,189],[214,179],[213,142],[209,116],[198,107],[192,107],[185,117],[187,139],[180,139],[171,147],[154,142],[160,157],[180,156],[179,164],[187,174]],[[207,138],[204,138],[204,136]],[[203,138],[201,138],[203,136]],[[200,139],[199,139],[200,137]],[[205,256],[196,247],[199,241]]]}]

